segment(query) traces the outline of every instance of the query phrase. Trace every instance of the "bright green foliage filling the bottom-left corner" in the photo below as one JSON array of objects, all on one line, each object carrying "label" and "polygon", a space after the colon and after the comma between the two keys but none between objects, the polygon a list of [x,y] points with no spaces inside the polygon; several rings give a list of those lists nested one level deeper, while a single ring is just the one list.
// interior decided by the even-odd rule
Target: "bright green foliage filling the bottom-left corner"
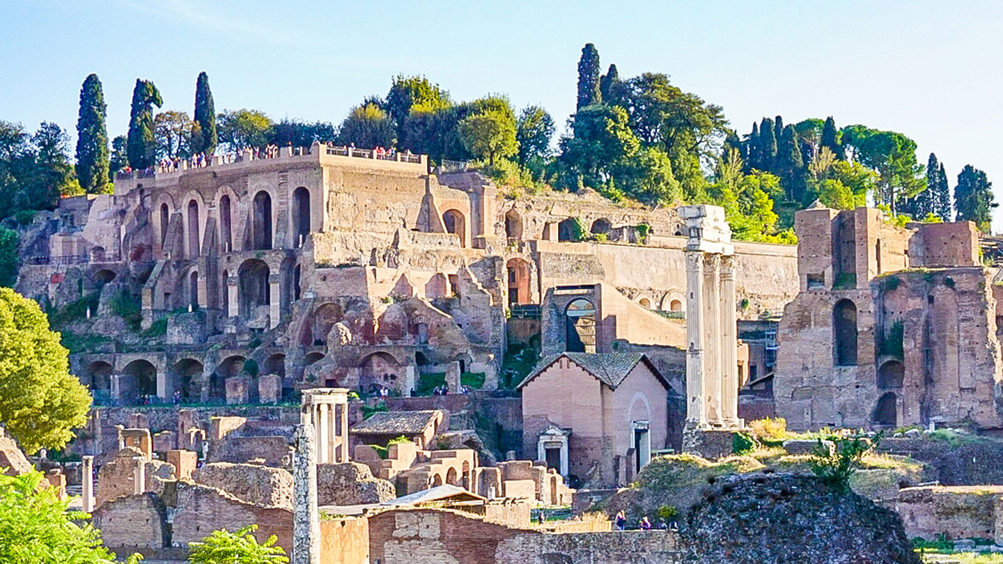
[{"label": "bright green foliage filling the bottom-left corner", "polygon": [[[40,472],[0,475],[0,562],[4,564],[114,564],[100,532],[66,511]],[[128,562],[136,562],[132,557]]]}]

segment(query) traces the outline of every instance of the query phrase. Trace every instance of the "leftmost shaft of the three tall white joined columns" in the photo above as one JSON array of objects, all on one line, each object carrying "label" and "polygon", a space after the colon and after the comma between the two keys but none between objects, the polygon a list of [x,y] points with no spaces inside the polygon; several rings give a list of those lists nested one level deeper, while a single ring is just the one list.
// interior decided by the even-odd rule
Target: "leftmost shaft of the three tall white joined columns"
[{"label": "leftmost shaft of the three tall white joined columns", "polygon": [[707,427],[703,391],[703,253],[686,251],[686,422]]}]

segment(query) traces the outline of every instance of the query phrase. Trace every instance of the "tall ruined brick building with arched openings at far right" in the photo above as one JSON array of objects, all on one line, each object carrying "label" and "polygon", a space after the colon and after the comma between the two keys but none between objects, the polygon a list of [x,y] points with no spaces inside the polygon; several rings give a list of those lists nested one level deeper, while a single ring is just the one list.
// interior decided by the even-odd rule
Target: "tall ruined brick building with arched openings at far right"
[{"label": "tall ruined brick building with arched openings at far right", "polygon": [[800,292],[773,381],[791,429],[1003,424],[1003,286],[970,222],[899,228],[879,210],[795,215]]}]

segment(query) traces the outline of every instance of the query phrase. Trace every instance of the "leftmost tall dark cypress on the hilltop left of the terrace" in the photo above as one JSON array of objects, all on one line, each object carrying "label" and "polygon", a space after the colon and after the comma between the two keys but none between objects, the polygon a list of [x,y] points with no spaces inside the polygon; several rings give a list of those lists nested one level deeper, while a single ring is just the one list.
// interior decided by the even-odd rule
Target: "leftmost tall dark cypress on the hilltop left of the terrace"
[{"label": "leftmost tall dark cypress on the hilltop left of the terrace", "polygon": [[96,74],[80,87],[76,118],[76,178],[89,194],[104,192],[108,184],[108,133],[104,128],[104,92]]}]

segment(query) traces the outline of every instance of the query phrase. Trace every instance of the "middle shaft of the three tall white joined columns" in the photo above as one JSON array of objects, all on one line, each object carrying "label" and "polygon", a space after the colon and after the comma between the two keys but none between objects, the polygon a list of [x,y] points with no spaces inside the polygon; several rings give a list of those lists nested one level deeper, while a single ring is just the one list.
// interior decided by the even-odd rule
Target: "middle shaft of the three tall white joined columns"
[{"label": "middle shaft of the three tall white joined columns", "polygon": [[707,402],[707,422],[721,422],[721,321],[720,281],[718,268],[721,256],[704,253],[703,256],[703,391]]}]

